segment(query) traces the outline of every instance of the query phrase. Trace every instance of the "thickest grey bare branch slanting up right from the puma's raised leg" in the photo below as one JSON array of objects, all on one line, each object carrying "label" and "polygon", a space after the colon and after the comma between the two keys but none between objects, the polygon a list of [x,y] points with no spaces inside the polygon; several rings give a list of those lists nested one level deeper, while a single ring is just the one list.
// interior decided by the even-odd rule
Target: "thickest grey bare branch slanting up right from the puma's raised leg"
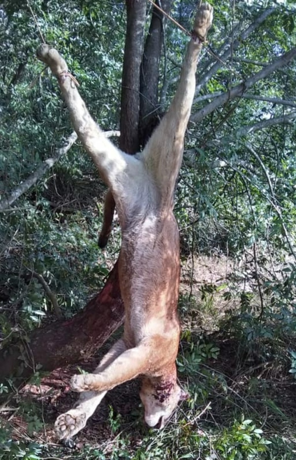
[{"label": "thickest grey bare branch slanting up right from the puma's raised leg", "polygon": [[270,73],[280,69],[281,67],[287,65],[290,61],[292,61],[296,57],[296,48],[292,48],[287,53],[283,54],[280,58],[273,61],[264,69],[260,70],[259,72],[255,73],[251,77],[247,78],[243,83],[240,83],[237,86],[234,86],[230,91],[223,93],[221,96],[216,98],[207,106],[200,109],[198,112],[191,115],[190,120],[194,122],[201,121],[205,116],[209,113],[213,112],[217,107],[222,106],[227,101],[231,101],[236,97],[241,97],[244,92],[251,88],[257,81],[266,78],[270,75]]}]

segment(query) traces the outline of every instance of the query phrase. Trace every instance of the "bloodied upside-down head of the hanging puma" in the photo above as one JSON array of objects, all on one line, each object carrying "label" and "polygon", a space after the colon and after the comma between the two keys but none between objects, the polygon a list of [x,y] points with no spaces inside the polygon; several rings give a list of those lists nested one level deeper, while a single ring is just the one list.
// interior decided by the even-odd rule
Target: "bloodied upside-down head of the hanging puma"
[{"label": "bloodied upside-down head of the hanging puma", "polygon": [[140,397],[145,408],[145,422],[148,426],[163,428],[179,401],[187,399],[188,394],[174,382],[152,385],[144,379]]}]

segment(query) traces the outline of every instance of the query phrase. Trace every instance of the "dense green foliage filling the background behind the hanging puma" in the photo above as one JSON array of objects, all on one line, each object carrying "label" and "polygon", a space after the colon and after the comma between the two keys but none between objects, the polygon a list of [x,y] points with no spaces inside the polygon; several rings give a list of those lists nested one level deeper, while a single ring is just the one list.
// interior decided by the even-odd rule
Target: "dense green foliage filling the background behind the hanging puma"
[{"label": "dense green foliage filling the background behind the hanging puma", "polygon": [[[69,63],[93,116],[103,129],[118,129],[124,2],[32,0],[30,5],[44,39]],[[176,1],[171,11],[188,31],[194,7],[191,0]],[[296,60],[281,60],[296,47],[295,3],[219,1],[214,7],[214,27],[198,68],[175,208],[183,279],[190,284],[180,301],[185,326],[178,366],[192,397],[186,412],[178,414],[178,425],[164,433],[148,435],[137,421],[139,413],[133,415],[141,442],[126,426],[119,436],[122,421],[110,409],[111,447],[85,448],[77,459],[292,460],[296,455],[291,414],[277,397],[277,391],[285,392],[286,387],[276,387],[285,379],[287,386],[292,385],[296,369]],[[149,4],[147,8],[148,30]],[[40,39],[28,6],[4,0],[0,5],[3,347],[25,338],[60,311],[67,318],[83,307],[103,285],[120,243],[115,224],[108,251],[97,248],[105,187],[78,142],[17,200],[1,208],[48,158],[55,159],[72,132],[57,83],[35,58]],[[174,94],[187,39],[175,24],[166,22],[161,111]],[[279,63],[274,71],[272,62]],[[242,91],[234,97],[240,84]],[[232,267],[227,279],[212,282],[201,277],[196,282],[202,255],[213,264],[226,256]],[[201,334],[202,329],[207,333]],[[229,359],[235,359],[229,366],[231,375],[225,370],[225,342]],[[264,381],[252,366],[260,372],[267,366]],[[8,389],[13,389],[13,381],[1,385],[0,393],[5,395]],[[200,429],[198,411],[210,401],[212,410],[205,413],[211,415]],[[24,402],[20,405],[31,436],[44,420],[37,409],[32,412],[31,407],[30,412]],[[15,433],[10,439],[9,430],[3,422],[0,458],[42,458],[48,446],[36,444],[34,436],[32,443],[25,437],[20,441]]]}]

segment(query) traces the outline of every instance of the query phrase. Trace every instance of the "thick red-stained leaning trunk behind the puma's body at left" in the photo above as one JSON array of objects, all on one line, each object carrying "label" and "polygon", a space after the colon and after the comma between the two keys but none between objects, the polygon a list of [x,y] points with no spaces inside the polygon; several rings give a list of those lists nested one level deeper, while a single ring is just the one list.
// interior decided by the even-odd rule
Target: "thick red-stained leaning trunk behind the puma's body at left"
[{"label": "thick red-stained leaning trunk behind the puma's body at left", "polygon": [[25,380],[41,371],[87,359],[123,322],[117,263],[102,291],[67,321],[36,329],[25,341],[0,351],[0,383],[14,376]]}]

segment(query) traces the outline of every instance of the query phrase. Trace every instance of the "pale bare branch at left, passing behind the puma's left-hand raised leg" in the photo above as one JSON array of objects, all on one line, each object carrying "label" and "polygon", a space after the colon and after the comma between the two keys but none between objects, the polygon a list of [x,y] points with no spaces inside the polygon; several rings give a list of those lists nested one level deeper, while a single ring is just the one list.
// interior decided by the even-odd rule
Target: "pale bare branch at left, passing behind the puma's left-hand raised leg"
[{"label": "pale bare branch at left, passing behind the puma's left-hand raised leg", "polygon": [[[106,131],[105,136],[106,137],[112,137],[112,136],[119,136],[120,132],[119,131]],[[77,139],[77,134],[75,131],[66,139],[65,144],[63,147],[57,148],[54,152],[53,157],[47,158],[46,160],[43,161],[43,163],[37,168],[36,171],[34,171],[31,176],[29,176],[24,182],[22,182],[18,187],[16,187],[10,195],[7,197],[2,196],[0,199],[0,212],[6,211],[9,209],[9,207],[29,188],[32,187],[32,185],[35,185],[36,182],[44,176],[44,174],[53,167],[53,165],[63,156],[65,155],[68,150],[72,147],[74,142]]]}]

